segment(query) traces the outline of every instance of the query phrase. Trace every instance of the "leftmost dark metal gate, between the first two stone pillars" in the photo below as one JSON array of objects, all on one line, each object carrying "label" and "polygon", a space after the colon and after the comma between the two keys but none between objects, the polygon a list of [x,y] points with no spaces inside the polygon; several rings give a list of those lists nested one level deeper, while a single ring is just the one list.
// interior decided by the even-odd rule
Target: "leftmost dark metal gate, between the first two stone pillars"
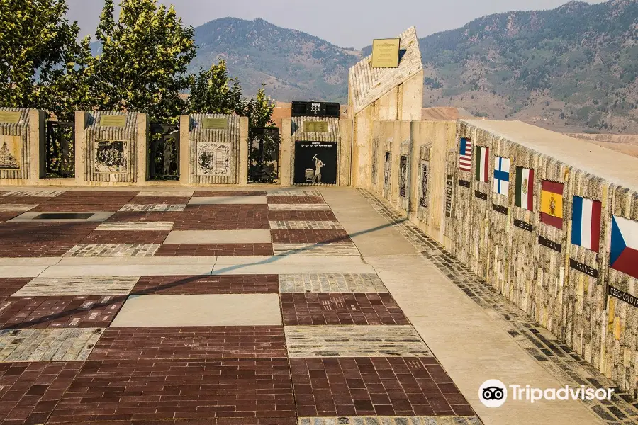
[{"label": "leftmost dark metal gate, between the first two stone pillars", "polygon": [[45,140],[46,176],[75,177],[75,123],[47,121]]}]

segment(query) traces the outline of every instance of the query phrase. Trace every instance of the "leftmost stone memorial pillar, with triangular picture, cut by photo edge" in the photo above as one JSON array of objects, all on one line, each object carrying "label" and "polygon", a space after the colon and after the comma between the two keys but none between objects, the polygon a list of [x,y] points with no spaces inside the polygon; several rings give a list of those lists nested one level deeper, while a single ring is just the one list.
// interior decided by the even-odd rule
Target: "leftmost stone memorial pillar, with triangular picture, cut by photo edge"
[{"label": "leftmost stone memorial pillar, with triangular picture, cut by photo edge", "polygon": [[[44,171],[44,112],[28,108],[0,108],[0,182],[24,184]],[[44,154],[44,153],[42,153]]]}]

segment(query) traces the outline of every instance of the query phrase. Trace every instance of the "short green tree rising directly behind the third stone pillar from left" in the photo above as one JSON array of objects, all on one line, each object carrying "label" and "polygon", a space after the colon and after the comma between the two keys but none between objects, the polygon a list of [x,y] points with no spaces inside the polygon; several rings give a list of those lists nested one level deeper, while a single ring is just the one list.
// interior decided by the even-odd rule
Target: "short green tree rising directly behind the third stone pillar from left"
[{"label": "short green tree rising directly behind the third stone pillar from left", "polygon": [[237,113],[243,115],[246,103],[237,78],[228,77],[226,62],[199,69],[191,79],[189,111],[191,113]]}]

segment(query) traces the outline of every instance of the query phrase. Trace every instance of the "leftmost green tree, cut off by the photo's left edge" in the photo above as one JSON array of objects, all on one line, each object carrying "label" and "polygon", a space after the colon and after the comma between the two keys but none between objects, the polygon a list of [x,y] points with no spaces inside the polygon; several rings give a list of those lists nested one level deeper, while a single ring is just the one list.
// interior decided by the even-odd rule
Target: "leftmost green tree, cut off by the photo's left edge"
[{"label": "leftmost green tree, cut off by the photo's left edge", "polygon": [[[48,108],[68,117],[83,96],[56,92],[75,79],[84,55],[65,0],[0,0],[0,104]],[[66,81],[66,83],[65,83]],[[86,89],[86,87],[84,87]],[[58,96],[63,100],[58,105]]]}]

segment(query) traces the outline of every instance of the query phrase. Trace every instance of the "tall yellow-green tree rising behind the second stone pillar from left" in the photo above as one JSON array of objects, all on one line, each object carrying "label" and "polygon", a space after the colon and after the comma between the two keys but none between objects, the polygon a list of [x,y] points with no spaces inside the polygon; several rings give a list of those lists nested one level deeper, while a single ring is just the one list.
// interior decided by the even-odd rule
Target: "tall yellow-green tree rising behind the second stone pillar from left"
[{"label": "tall yellow-green tree rising behind the second stone pillar from left", "polygon": [[113,0],[105,1],[96,32],[102,52],[89,66],[96,106],[148,113],[152,122],[176,118],[186,110],[179,92],[189,87],[194,30],[157,0],[121,0],[120,6],[116,22]]}]

